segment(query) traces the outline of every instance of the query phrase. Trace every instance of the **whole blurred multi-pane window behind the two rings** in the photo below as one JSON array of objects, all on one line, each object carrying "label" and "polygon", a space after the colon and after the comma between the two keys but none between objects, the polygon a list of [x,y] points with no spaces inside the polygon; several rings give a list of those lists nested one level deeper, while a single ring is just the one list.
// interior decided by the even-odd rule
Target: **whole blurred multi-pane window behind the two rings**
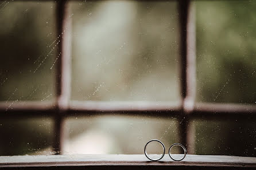
[{"label": "whole blurred multi-pane window behind the two rings", "polygon": [[254,7],[1,2],[0,154],[143,154],[157,138],[255,156]]}]

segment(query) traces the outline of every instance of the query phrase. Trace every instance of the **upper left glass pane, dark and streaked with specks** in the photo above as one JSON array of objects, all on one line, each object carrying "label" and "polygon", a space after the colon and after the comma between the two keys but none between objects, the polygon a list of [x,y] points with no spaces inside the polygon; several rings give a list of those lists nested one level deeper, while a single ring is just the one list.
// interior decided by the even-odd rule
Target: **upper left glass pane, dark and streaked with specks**
[{"label": "upper left glass pane, dark and streaked with specks", "polygon": [[0,100],[52,99],[55,2],[0,4]]}]

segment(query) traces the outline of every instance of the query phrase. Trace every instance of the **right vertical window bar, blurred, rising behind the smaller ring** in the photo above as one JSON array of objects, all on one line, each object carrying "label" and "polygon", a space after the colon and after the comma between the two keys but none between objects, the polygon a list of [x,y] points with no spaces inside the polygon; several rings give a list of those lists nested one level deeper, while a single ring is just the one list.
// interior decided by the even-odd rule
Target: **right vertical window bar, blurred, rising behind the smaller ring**
[{"label": "right vertical window bar, blurred, rising behind the smaller ring", "polygon": [[193,153],[193,126],[188,114],[193,111],[196,94],[196,45],[194,5],[190,0],[179,1],[180,14],[180,83],[183,114],[180,117],[181,143]]}]

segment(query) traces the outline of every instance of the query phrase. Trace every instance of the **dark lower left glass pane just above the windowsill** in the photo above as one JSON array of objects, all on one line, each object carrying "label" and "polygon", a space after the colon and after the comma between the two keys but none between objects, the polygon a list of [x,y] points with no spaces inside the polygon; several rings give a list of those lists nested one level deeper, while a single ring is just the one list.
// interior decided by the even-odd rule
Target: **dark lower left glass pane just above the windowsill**
[{"label": "dark lower left glass pane just above the windowsill", "polygon": [[0,155],[52,154],[51,118],[1,118]]}]

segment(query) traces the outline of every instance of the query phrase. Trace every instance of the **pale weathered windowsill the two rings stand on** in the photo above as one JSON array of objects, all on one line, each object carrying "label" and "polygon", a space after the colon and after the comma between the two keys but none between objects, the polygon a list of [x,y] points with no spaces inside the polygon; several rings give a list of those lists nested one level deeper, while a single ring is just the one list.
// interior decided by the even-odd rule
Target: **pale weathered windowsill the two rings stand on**
[{"label": "pale weathered windowsill the two rings stand on", "polygon": [[[0,168],[4,167],[83,167],[94,169],[98,166],[133,165],[140,169],[148,169],[153,165],[172,166],[174,169],[197,167],[199,169],[211,169],[214,167],[226,168],[253,168],[256,167],[256,157],[238,156],[210,156],[187,155],[183,161],[172,161],[169,155],[165,155],[161,161],[149,161],[145,155],[36,155],[36,156],[0,156]],[[102,168],[103,168],[102,167]],[[159,167],[159,168],[160,168]],[[169,167],[170,168],[170,167]],[[226,169],[225,168],[225,169]],[[64,168],[65,169],[65,168]]]}]

